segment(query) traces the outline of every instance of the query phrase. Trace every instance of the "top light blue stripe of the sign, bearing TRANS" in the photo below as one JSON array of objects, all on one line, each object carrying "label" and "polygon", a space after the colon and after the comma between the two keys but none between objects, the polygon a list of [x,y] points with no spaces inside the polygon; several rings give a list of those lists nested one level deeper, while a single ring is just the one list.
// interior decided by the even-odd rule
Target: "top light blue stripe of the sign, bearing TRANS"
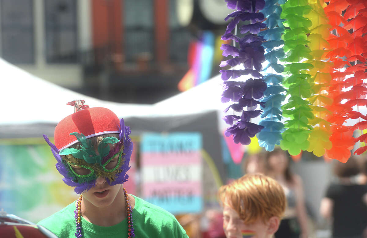
[{"label": "top light blue stripe of the sign, bearing TRANS", "polygon": [[189,152],[200,151],[202,135],[192,133],[146,133],[142,135],[141,152]]}]

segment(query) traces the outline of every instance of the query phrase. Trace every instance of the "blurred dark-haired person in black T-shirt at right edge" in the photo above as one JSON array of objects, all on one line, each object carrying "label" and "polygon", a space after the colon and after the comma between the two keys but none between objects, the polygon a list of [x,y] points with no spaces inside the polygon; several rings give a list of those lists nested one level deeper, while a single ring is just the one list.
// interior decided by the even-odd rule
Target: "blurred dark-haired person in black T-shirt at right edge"
[{"label": "blurred dark-haired person in black T-shirt at right edge", "polygon": [[331,183],[321,200],[320,214],[332,222],[333,238],[361,238],[367,226],[367,187],[357,184],[359,173],[354,157],[346,163],[334,162],[337,180]]}]

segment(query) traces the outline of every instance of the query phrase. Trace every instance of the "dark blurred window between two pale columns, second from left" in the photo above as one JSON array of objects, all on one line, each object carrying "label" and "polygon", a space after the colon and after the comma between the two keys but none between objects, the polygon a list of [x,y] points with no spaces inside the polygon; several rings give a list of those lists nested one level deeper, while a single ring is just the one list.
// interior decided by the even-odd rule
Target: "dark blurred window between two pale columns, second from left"
[{"label": "dark blurred window between two pale columns, second from left", "polygon": [[44,0],[46,61],[76,63],[77,1]]}]

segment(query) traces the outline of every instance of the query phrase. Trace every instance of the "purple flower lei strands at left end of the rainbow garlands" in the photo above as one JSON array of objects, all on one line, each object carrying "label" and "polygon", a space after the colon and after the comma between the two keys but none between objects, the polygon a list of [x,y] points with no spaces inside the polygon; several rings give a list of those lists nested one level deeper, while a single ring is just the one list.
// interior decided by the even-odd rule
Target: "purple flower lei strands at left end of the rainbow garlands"
[{"label": "purple flower lei strands at left end of the rainbow garlands", "polygon": [[[259,133],[264,126],[251,123],[251,118],[255,118],[261,115],[261,110],[256,110],[258,105],[264,106],[265,104],[259,101],[266,90],[266,83],[262,79],[261,73],[262,62],[265,61],[264,47],[262,42],[265,41],[264,37],[257,36],[262,28],[266,27],[266,24],[261,23],[264,20],[264,14],[258,12],[265,6],[264,0],[225,0],[227,7],[234,9],[235,11],[229,14],[225,20],[229,22],[225,34],[222,36],[222,40],[233,40],[233,46],[228,44],[222,44],[222,55],[233,58],[226,61],[222,61],[221,67],[243,64],[244,69],[222,69],[219,72],[222,73],[222,80],[227,81],[229,79],[236,79],[242,75],[251,75],[254,78],[248,79],[246,82],[224,82],[224,92],[222,94],[222,102],[233,101],[235,104],[226,108],[227,112],[230,108],[233,111],[240,112],[241,116],[228,115],[224,120],[227,124],[231,125],[226,132],[225,136],[233,135],[235,143],[241,143],[248,145],[251,142],[250,137],[254,137]],[[237,24],[240,21],[250,21],[250,24],[243,25],[239,28],[240,33],[244,34],[242,37],[237,36]],[[234,30],[234,34],[232,31]],[[239,43],[239,47],[236,47],[236,42]],[[244,107],[247,107],[247,111],[244,111]]]}]

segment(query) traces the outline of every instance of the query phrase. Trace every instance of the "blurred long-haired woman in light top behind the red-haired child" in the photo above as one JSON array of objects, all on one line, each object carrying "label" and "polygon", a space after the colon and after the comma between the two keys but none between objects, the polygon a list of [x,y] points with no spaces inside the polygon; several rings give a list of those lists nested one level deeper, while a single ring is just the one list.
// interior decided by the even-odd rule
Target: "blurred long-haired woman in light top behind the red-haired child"
[{"label": "blurred long-haired woman in light top behind the red-haired child", "polygon": [[273,151],[266,152],[267,174],[274,178],[283,187],[287,199],[284,219],[276,238],[307,238],[308,215],[306,212],[304,188],[302,179],[291,172],[290,157],[276,147]]}]

